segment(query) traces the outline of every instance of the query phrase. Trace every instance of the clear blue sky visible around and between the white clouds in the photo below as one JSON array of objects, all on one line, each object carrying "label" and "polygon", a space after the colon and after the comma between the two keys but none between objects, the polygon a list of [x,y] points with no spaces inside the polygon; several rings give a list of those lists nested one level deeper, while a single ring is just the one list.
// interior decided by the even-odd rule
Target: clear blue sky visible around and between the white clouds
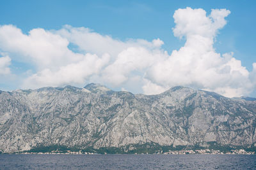
[{"label": "clear blue sky visible around and between the white clouds", "polygon": [[[23,34],[28,35],[32,29],[44,29],[45,31],[59,31],[63,29],[63,25],[70,25],[72,28],[85,27],[91,32],[97,32],[102,36],[110,36],[116,41],[127,43],[131,39],[144,39],[151,42],[153,39],[161,39],[164,42],[161,45],[161,50],[165,50],[171,55],[173,50],[179,50],[186,43],[186,38],[179,39],[173,35],[172,28],[175,27],[173,14],[179,8],[191,7],[202,8],[211,13],[211,9],[225,8],[230,11],[230,14],[225,17],[227,24],[223,28],[218,29],[218,34],[214,38],[214,49],[216,53],[234,52],[232,57],[236,60],[241,60],[242,66],[246,67],[247,71],[252,72],[253,62],[256,62],[255,38],[254,32],[256,26],[255,1],[1,1],[0,2],[0,25],[13,25],[20,29]],[[61,34],[63,36],[63,34]],[[66,37],[65,37],[66,38]],[[81,50],[79,45],[72,43],[70,40],[68,48],[75,53],[92,53],[92,50]],[[135,40],[134,40],[135,41]],[[136,44],[138,41],[136,40]],[[138,46],[140,46],[138,45]],[[78,47],[77,47],[78,46]],[[74,50],[74,48],[79,50]],[[87,48],[86,48],[87,49]],[[93,48],[94,49],[94,48]],[[152,50],[152,49],[151,49]],[[13,52],[4,46],[0,47],[0,52],[4,52],[2,56],[8,55],[11,64],[10,73],[12,76],[2,76],[4,81],[0,82],[0,89],[14,90],[25,88],[24,79],[42,71],[38,69],[38,65],[29,62],[24,57],[19,58],[19,55],[24,53]],[[97,55],[102,53],[97,53]],[[0,56],[1,57],[1,56]],[[115,62],[113,57],[110,57],[112,62]],[[25,61],[24,61],[25,60]],[[68,62],[76,62],[70,61]],[[63,66],[67,65],[63,63]],[[107,64],[108,65],[108,64]],[[151,65],[150,65],[151,66]],[[107,66],[104,66],[107,67]],[[51,71],[57,68],[51,68]],[[145,75],[134,73],[140,69],[134,69],[130,72],[136,76]],[[93,73],[94,74],[94,73]],[[139,82],[131,87],[131,84],[126,81],[121,83],[111,83],[111,81],[102,80],[99,78],[99,71],[96,76],[84,78],[82,81],[61,81],[61,83],[53,83],[52,85],[66,85],[68,82],[72,85],[83,86],[82,84],[89,83],[92,80],[104,83],[116,90],[131,90],[134,93],[145,92],[143,84]],[[149,74],[149,73],[147,73]],[[101,75],[102,76],[102,75]],[[125,73],[125,76],[128,76]],[[12,77],[12,78],[10,78]],[[132,76],[131,76],[132,77]],[[149,76],[148,76],[149,77]],[[252,76],[251,76],[252,77]],[[135,78],[136,79],[136,78]],[[112,80],[114,81],[114,80]],[[132,81],[136,81],[132,79]],[[150,80],[151,81],[151,80]],[[152,80],[153,82],[153,80]],[[157,80],[154,80],[157,83]],[[200,82],[199,82],[200,84]],[[46,84],[47,85],[47,84]],[[51,85],[51,83],[49,83]],[[161,84],[163,89],[166,89],[173,83]],[[198,85],[198,83],[184,83],[198,89],[214,90],[213,87],[207,85]],[[231,86],[231,85],[230,85]],[[36,86],[35,86],[36,87]],[[236,86],[234,86],[236,87]],[[33,88],[33,87],[28,87]],[[158,88],[158,87],[157,87]],[[222,88],[222,87],[221,87]],[[239,86],[237,86],[239,88]],[[249,87],[248,87],[249,88]],[[218,88],[215,88],[218,89]],[[241,92],[241,95],[256,96],[255,86],[250,87],[250,92]],[[147,91],[147,90],[146,90]],[[161,91],[161,90],[160,90]],[[219,92],[216,90],[216,92]],[[148,92],[145,92],[146,94]],[[149,92],[150,93],[150,92]],[[223,94],[225,94],[223,92]],[[237,93],[239,94],[239,93]],[[226,95],[227,96],[227,95]]]}]

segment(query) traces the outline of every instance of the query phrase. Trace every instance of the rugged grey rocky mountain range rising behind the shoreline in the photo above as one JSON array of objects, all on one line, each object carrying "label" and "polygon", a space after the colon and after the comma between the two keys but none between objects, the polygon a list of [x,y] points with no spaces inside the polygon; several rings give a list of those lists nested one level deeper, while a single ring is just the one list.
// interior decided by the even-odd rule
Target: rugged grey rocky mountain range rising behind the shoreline
[{"label": "rugged grey rocky mountain range rising behind the shoreline", "polygon": [[55,146],[110,152],[252,148],[256,100],[173,87],[158,95],[99,84],[0,91],[0,150]]}]

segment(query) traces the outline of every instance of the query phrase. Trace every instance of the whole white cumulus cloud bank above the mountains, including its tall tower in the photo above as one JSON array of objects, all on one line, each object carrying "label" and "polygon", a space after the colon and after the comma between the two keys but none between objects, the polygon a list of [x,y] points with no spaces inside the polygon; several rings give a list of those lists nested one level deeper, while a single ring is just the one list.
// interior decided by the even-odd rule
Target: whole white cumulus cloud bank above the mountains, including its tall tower
[{"label": "whole white cumulus cloud bank above the mountains, including its tall tower", "polygon": [[[230,11],[176,10],[173,34],[186,39],[168,54],[161,39],[121,41],[84,27],[32,29],[24,34],[13,25],[0,26],[0,52],[34,66],[23,88],[84,85],[89,81],[111,87],[158,94],[175,85],[211,90],[224,96],[244,96],[256,86],[256,64],[249,72],[233,53],[216,53],[218,31]],[[72,50],[70,46],[77,49]],[[10,73],[10,57],[0,57],[0,74]]]}]

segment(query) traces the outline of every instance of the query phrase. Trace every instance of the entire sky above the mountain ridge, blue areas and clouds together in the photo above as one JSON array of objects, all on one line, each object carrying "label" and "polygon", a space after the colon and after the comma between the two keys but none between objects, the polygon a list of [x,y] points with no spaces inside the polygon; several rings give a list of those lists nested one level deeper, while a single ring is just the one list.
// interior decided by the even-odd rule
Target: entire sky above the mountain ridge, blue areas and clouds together
[{"label": "entire sky above the mountain ridge, blue areas and clouds together", "polygon": [[0,90],[256,97],[256,1],[0,1]]}]

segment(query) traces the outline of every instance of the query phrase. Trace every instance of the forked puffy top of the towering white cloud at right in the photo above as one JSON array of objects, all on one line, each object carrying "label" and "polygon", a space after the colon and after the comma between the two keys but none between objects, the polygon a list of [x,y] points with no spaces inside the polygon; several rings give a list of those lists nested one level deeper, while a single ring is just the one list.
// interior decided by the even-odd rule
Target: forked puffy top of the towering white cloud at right
[{"label": "forked puffy top of the towering white cloud at right", "polygon": [[175,28],[173,29],[174,36],[182,38],[186,36],[200,35],[204,38],[212,38],[216,36],[216,31],[226,25],[225,17],[230,13],[229,10],[212,10],[211,15],[206,16],[206,11],[203,9],[186,9],[176,10],[173,18]]}]

